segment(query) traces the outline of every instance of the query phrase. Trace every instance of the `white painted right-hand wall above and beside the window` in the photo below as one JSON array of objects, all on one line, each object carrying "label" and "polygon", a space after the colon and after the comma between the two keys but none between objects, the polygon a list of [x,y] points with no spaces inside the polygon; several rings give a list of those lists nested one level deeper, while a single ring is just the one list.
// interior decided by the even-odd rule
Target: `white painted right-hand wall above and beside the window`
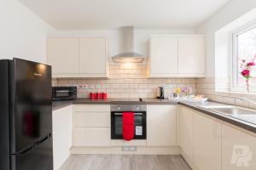
[{"label": "white painted right-hand wall above and beside the window", "polygon": [[256,8],[255,0],[232,0],[196,29],[197,33],[206,35],[207,77],[215,76],[215,32],[253,8]]}]

